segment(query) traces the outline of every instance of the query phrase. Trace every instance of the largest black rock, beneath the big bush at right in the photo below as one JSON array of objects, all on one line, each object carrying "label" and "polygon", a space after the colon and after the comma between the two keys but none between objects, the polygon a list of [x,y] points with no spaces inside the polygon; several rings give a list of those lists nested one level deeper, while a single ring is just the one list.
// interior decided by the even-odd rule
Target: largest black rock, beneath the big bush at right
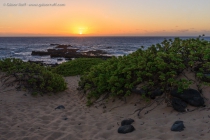
[{"label": "largest black rock, beneath the big bush at right", "polygon": [[182,93],[178,93],[178,89],[174,89],[171,91],[171,95],[182,99],[192,106],[204,106],[203,97],[201,97],[200,93],[195,89],[186,89]]}]

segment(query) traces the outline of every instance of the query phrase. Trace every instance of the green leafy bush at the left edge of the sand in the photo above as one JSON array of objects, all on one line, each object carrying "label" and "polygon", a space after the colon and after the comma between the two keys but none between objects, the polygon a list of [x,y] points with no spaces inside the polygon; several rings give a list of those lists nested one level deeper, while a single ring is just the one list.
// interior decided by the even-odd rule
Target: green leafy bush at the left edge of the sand
[{"label": "green leafy bush at the left edge of the sand", "polygon": [[67,88],[62,76],[35,63],[7,58],[0,60],[0,70],[14,76],[20,85],[24,85],[32,93],[59,92]]}]

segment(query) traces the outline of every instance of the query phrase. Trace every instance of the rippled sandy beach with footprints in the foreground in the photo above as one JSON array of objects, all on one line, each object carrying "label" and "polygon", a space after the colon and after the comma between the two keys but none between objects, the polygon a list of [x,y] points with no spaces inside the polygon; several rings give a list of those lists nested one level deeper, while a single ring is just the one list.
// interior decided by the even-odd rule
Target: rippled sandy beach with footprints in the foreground
[{"label": "rippled sandy beach with footprints in the foreground", "polygon": [[[77,90],[79,77],[67,77],[68,89],[52,96],[33,97],[15,86],[0,84],[0,140],[209,140],[210,88],[205,88],[206,107],[179,113],[163,101],[145,108],[139,95],[127,102],[110,99],[87,107]],[[65,109],[55,109],[63,105]],[[134,113],[134,114],[133,114]],[[123,119],[132,118],[135,131],[117,132]],[[173,132],[172,124],[182,120],[184,131]]]}]

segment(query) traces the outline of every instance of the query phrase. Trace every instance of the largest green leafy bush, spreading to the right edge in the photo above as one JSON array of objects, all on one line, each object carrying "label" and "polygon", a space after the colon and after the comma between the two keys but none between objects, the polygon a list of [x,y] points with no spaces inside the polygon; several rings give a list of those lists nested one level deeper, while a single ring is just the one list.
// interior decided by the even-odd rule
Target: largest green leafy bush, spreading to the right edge
[{"label": "largest green leafy bush, spreading to the right edge", "polygon": [[210,42],[200,37],[169,39],[92,67],[81,76],[79,86],[84,92],[88,91],[89,104],[92,99],[105,93],[109,96],[128,96],[139,84],[148,93],[155,88],[161,88],[162,91],[178,88],[181,91],[192,84],[186,78],[177,79],[184,70],[193,71],[200,66],[196,72],[199,80],[204,71],[209,71],[209,64]]}]

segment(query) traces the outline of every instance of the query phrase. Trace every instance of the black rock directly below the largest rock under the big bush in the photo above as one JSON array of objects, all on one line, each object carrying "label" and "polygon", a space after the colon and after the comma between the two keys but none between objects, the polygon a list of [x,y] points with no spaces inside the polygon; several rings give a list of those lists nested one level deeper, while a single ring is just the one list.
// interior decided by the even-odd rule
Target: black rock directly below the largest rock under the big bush
[{"label": "black rock directly below the largest rock under the big bush", "polygon": [[172,107],[176,111],[179,111],[179,112],[185,112],[186,111],[187,104],[184,101],[182,101],[181,99],[178,99],[178,98],[172,98],[171,101],[172,101],[171,102]]}]

